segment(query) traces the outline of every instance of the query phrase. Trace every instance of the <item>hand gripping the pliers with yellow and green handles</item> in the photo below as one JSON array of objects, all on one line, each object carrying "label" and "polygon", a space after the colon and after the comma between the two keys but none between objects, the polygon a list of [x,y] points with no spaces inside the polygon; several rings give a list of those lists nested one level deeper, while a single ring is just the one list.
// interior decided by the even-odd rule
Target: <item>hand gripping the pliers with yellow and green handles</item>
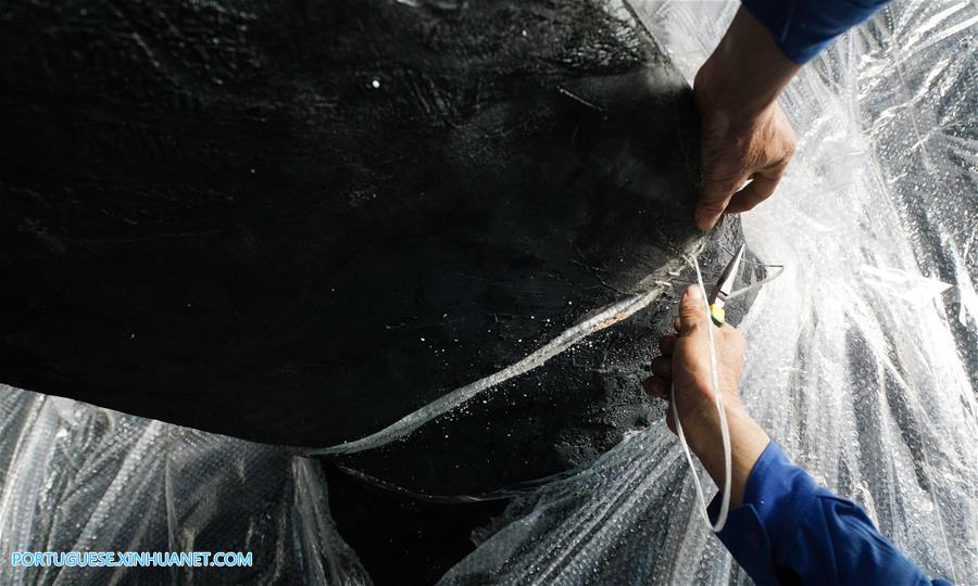
[{"label": "hand gripping the pliers with yellow and green handles", "polygon": [[[676,409],[682,421],[684,432],[690,447],[699,453],[700,447],[716,441],[719,429],[707,329],[713,328],[717,378],[727,411],[742,408],[737,383],[743,365],[744,342],[732,326],[717,328],[713,324],[706,316],[703,294],[698,285],[691,285],[684,293],[679,303],[679,317],[674,326],[677,333],[666,334],[660,340],[662,356],[652,360],[652,377],[643,381],[643,386],[650,395],[668,402],[670,385],[675,384]],[[675,433],[672,405],[666,423]]]}]

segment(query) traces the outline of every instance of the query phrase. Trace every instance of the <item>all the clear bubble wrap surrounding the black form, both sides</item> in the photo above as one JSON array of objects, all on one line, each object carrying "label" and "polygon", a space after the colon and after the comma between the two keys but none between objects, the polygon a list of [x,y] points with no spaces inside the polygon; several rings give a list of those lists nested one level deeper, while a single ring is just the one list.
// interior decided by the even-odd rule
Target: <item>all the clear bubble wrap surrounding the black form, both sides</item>
[{"label": "all the clear bubble wrap surrounding the black form, both sides", "polygon": [[[634,8],[692,79],[737,4]],[[785,94],[800,137],[788,176],[743,217],[749,246],[788,265],[741,323],[744,403],[913,560],[960,583],[978,575],[976,22],[970,2],[901,1],[835,42]],[[208,547],[255,556],[222,581],[368,582],[309,461],[2,391],[0,553]],[[694,507],[660,421],[517,499],[444,583],[745,582]],[[0,564],[0,582],[85,572]]]}]

